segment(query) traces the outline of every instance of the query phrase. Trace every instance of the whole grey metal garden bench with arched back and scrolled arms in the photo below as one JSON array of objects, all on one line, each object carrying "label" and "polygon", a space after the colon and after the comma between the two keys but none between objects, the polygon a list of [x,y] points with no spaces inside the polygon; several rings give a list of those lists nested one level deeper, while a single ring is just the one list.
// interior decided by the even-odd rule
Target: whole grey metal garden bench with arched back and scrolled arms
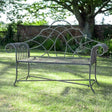
[{"label": "whole grey metal garden bench with arched back and scrolled arms", "polygon": [[[65,26],[65,23],[68,25]],[[104,43],[88,38],[80,29],[74,28],[69,22],[62,20],[53,22],[48,28],[42,29],[32,39],[25,42],[9,43],[5,48],[7,52],[15,49],[16,78],[14,85],[19,81],[60,81],[85,85],[90,87],[93,92],[92,86],[94,83],[97,83],[96,63],[98,52],[100,55],[103,55],[108,50],[108,47]],[[31,55],[33,49],[37,52],[37,56]],[[43,53],[40,55],[38,54],[39,51],[43,51]],[[83,57],[82,54],[85,52],[89,54],[89,58]],[[26,63],[28,69],[27,76],[21,79],[18,78],[18,66],[20,63]],[[40,79],[31,80],[30,77],[33,76],[30,74],[30,64],[32,63],[89,66],[88,78],[62,80],[36,76],[35,78]],[[91,77],[91,67],[93,65],[94,78]],[[80,83],[79,81],[88,81],[88,84]]]}]

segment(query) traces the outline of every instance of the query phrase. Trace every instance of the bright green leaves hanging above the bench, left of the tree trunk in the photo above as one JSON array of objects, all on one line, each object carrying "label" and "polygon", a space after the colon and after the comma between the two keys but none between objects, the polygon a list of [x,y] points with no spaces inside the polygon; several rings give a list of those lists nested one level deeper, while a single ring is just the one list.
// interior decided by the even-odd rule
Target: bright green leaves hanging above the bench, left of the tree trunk
[{"label": "bright green leaves hanging above the bench, left of the tree trunk", "polygon": [[26,7],[26,10],[35,19],[38,18],[39,20],[46,19],[47,17],[50,17],[54,20],[59,20],[66,18],[67,15],[71,15],[71,13],[67,13],[68,11],[61,5],[46,0],[34,2],[33,4]]}]

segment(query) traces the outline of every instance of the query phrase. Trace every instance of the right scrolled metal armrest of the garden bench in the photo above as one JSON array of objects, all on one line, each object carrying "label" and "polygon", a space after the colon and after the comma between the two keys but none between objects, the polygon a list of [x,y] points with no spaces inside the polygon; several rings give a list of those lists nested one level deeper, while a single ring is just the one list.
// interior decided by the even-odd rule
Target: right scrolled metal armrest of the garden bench
[{"label": "right scrolled metal armrest of the garden bench", "polygon": [[[102,52],[98,53],[98,48],[102,48]],[[102,56],[104,53],[106,53],[108,51],[108,46],[104,43],[99,43],[96,44],[95,46],[93,46],[93,48],[91,49],[91,64],[94,64],[96,62],[96,57]]]}]

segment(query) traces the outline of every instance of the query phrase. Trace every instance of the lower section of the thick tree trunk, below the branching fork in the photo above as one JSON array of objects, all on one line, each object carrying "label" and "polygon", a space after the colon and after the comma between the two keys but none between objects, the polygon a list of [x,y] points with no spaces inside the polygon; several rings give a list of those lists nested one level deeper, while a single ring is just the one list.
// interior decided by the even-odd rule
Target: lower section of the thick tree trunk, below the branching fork
[{"label": "lower section of the thick tree trunk, below the branching fork", "polygon": [[83,31],[83,33],[87,34],[89,38],[92,38],[94,36],[94,18],[88,18],[88,19],[81,19],[79,21],[79,27]]}]

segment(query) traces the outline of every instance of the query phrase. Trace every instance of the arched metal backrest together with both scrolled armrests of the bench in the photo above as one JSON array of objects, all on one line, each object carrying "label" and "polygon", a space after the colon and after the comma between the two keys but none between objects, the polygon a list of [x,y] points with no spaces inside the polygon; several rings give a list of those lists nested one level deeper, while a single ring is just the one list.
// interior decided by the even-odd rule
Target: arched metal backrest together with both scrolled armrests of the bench
[{"label": "arched metal backrest together with both scrolled armrests of the bench", "polygon": [[[61,25],[59,25],[61,24]],[[68,26],[64,25],[68,24]],[[56,25],[54,27],[54,25]],[[94,46],[94,47],[93,47]],[[55,56],[58,56],[58,51],[63,51],[63,57],[68,54],[75,55],[88,53],[91,55],[91,63],[96,60],[98,47],[103,48],[105,53],[108,47],[98,41],[88,38],[80,29],[74,28],[67,21],[55,21],[46,29],[34,38],[20,43],[10,43],[6,45],[6,49],[14,48],[16,51],[17,60],[30,57],[29,51],[32,49],[44,50],[42,56],[50,57],[50,51],[54,51]]]}]

